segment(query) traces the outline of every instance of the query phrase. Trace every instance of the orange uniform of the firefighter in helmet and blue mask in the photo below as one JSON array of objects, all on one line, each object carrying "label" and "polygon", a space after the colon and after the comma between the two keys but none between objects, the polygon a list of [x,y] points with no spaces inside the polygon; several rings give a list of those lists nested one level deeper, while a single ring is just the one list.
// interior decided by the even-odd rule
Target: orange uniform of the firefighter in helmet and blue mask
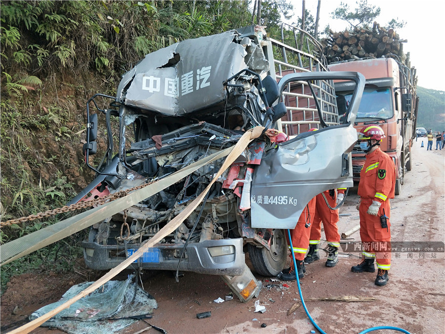
[{"label": "orange uniform of the firefighter in helmet and blue mask", "polygon": [[[386,242],[391,241],[389,198],[394,198],[395,180],[396,168],[388,154],[380,148],[366,154],[357,191],[361,197],[360,238],[364,257],[376,257],[377,268],[383,270],[389,270],[391,266],[391,252],[390,249],[385,250],[385,246],[389,246]],[[367,213],[372,201],[381,203],[377,216]],[[381,225],[380,217],[384,214],[388,218],[388,228],[382,228]],[[379,243],[380,241],[382,243]]]}]

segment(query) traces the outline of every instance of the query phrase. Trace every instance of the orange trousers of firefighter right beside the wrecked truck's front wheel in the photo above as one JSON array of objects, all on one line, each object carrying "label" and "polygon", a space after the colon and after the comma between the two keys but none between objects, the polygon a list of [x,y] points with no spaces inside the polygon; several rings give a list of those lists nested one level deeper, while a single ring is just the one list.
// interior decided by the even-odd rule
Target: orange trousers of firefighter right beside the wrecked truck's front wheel
[{"label": "orange trousers of firefighter right beside the wrecked truck's front wheel", "polygon": [[[304,260],[306,252],[308,251],[309,237],[311,235],[311,226],[313,223],[313,218],[315,216],[315,201],[316,197],[313,197],[309,201],[308,205],[306,205],[305,209],[301,213],[297,225],[293,230],[290,231],[292,246],[294,248],[293,251],[295,259],[297,261]],[[310,224],[310,226],[306,227],[306,224]],[[289,240],[287,240],[287,244],[290,249],[291,247]]]}]

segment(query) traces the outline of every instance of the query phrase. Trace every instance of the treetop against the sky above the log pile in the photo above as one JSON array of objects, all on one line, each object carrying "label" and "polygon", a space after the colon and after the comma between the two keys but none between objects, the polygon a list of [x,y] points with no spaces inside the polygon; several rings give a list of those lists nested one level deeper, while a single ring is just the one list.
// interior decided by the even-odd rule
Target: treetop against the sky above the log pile
[{"label": "treetop against the sky above the log pile", "polygon": [[368,0],[356,1],[356,4],[358,7],[351,11],[347,3],[340,2],[339,7],[331,13],[332,18],[344,20],[354,28],[358,25],[370,25],[380,15],[380,7],[369,5]]}]

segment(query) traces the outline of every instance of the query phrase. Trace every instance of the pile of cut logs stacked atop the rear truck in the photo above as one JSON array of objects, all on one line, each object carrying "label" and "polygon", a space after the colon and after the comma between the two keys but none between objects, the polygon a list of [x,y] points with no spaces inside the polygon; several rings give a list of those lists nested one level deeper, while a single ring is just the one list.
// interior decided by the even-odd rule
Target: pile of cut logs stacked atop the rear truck
[{"label": "pile of cut logs stacked atop the rear truck", "polygon": [[[329,30],[329,37],[321,43],[328,63],[355,58],[368,58],[395,54],[403,65],[409,65],[409,52],[403,53],[403,43],[394,29],[386,30],[374,22],[372,28],[356,27],[354,30],[334,32]],[[410,67],[410,66],[408,66]]]}]

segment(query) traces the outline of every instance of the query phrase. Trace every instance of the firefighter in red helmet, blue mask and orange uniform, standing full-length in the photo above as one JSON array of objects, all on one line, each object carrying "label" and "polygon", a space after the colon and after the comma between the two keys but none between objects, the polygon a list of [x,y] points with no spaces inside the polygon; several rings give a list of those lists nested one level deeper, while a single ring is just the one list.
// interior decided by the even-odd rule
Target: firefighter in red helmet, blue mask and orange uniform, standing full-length
[{"label": "firefighter in red helmet, blue mask and orange uniform, standing full-length", "polygon": [[363,260],[353,266],[351,271],[375,272],[374,259],[377,257],[378,273],[374,282],[376,286],[385,286],[388,283],[388,271],[391,266],[389,198],[394,198],[396,188],[396,167],[393,159],[378,147],[385,137],[382,128],[375,124],[366,125],[358,133],[360,148],[366,152],[357,191],[360,196],[357,204],[360,239],[364,251]]}]

